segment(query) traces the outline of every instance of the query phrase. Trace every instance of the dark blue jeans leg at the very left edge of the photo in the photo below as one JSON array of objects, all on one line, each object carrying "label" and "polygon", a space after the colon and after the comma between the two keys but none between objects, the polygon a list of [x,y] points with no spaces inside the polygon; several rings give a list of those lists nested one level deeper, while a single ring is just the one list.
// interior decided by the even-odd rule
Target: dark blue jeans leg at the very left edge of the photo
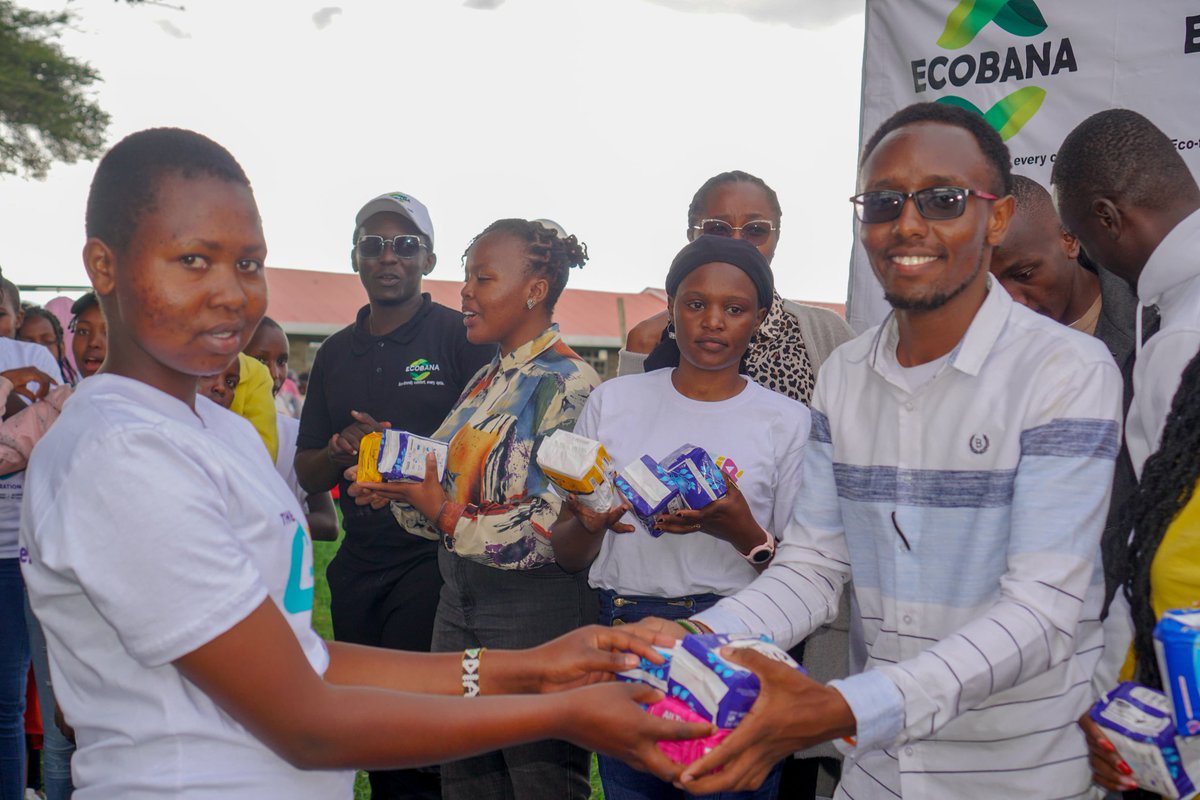
[{"label": "dark blue jeans leg at the very left edge of the photo", "polygon": [[18,559],[0,559],[0,800],[25,796],[29,631]]}]

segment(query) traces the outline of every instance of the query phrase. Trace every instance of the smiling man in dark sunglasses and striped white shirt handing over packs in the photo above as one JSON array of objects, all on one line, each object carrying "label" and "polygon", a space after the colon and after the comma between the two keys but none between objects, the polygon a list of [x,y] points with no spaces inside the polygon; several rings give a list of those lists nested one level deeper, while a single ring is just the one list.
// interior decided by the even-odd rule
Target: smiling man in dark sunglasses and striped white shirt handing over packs
[{"label": "smiling man in dark sunglasses and striped white shirt handing over packs", "polygon": [[1120,371],[989,275],[1012,175],[980,116],[900,110],[859,180],[859,237],[893,313],[822,368],[774,561],[692,621],[786,646],[853,578],[865,664],[822,685],[732,656],[760,674],[760,700],[682,780],[692,794],[750,788],[834,739],[850,754],[836,798],[1085,796],[1074,721],[1102,638]]}]

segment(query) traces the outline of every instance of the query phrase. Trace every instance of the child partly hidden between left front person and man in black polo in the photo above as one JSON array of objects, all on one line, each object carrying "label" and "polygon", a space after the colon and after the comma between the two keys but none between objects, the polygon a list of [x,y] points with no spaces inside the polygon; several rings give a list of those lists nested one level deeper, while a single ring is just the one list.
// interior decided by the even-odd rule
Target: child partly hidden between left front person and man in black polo
[{"label": "child partly hidden between left front person and man in black polo", "polygon": [[[288,377],[288,336],[270,317],[263,317],[254,335],[250,337],[250,343],[242,351],[257,361],[271,373],[271,393],[276,398]],[[296,437],[300,434],[300,420],[283,411],[275,413],[276,432],[280,438],[280,452],[275,457],[275,469],[287,482],[288,487],[305,506],[305,517],[308,519],[308,533],[314,541],[331,542],[337,539],[337,512],[334,511],[334,498],[329,492],[308,494],[300,488],[296,477],[295,455]]]}]

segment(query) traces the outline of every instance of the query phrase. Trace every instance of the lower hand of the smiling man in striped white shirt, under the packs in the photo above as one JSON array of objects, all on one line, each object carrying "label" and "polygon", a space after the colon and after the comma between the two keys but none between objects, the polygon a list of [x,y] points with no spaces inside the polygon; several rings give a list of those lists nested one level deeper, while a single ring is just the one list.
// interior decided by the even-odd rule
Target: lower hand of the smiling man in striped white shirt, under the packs
[{"label": "lower hand of the smiling man in striped white shirt, under the packs", "polygon": [[854,734],[854,715],[838,690],[754,650],[726,649],[721,655],[758,675],[762,688],[742,724],[684,769],[677,786],[686,792],[757,789],[788,753]]}]

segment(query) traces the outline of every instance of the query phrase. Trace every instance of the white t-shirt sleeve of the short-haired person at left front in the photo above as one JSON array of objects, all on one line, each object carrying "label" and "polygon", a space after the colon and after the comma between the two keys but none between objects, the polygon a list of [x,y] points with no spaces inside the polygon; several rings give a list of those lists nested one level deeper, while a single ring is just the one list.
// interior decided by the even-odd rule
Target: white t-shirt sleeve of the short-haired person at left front
[{"label": "white t-shirt sleeve of the short-haired person at left front", "polygon": [[83,589],[133,658],[166,664],[266,597],[227,494],[200,456],[157,432],[106,437],[74,455],[55,507],[35,511],[42,561]]}]

